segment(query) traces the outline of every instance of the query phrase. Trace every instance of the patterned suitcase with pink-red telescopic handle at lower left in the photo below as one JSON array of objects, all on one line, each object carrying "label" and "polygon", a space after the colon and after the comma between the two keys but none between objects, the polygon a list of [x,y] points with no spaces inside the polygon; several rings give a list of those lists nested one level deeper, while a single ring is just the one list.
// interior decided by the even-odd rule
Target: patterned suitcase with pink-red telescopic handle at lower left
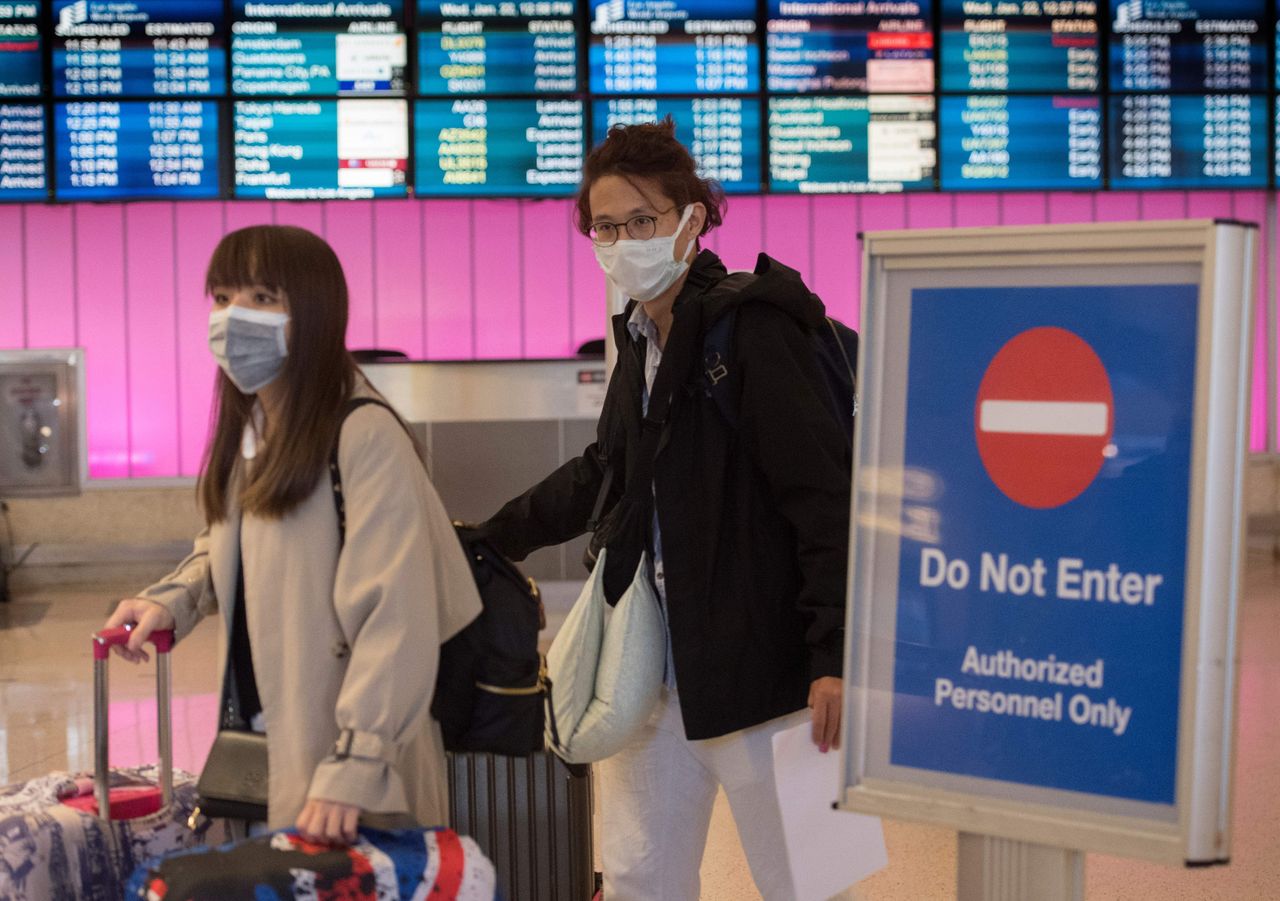
[{"label": "patterned suitcase with pink-red telescopic handle at lower left", "polygon": [[106,660],[127,640],[124,628],[93,636],[93,776],[54,773],[0,788],[0,901],[115,901],[138,864],[201,840],[187,828],[195,777],[173,770],[173,632],[152,636],[160,764],[108,768]]}]

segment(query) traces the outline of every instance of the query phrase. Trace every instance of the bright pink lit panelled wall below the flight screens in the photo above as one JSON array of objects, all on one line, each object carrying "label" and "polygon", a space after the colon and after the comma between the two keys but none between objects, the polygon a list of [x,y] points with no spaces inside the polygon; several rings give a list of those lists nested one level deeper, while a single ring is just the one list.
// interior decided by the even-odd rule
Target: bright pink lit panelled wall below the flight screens
[{"label": "bright pink lit panelled wall below the flight screens", "polygon": [[[1252,445],[1266,448],[1266,192],[739,197],[708,244],[730,267],[765,251],[858,321],[856,234],[897,228],[1234,218],[1263,225]],[[195,475],[214,363],[204,266],[227,230],[323,234],[351,283],[351,347],[431,360],[572,356],[604,334],[602,276],[567,201],[0,206],[0,348],[81,346],[96,479]],[[1274,371],[1272,376],[1274,378]],[[1272,420],[1274,421],[1274,420]]]}]

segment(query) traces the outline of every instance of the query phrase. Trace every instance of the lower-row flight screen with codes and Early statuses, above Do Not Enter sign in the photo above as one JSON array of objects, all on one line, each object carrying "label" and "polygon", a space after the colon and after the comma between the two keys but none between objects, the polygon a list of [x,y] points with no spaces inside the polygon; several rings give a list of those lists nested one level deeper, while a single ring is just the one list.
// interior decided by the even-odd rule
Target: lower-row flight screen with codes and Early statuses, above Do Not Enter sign
[{"label": "lower-row flight screen with codes and Early statuses, above Do Not Enter sign", "polygon": [[942,97],[943,191],[1102,187],[1102,101],[1078,95]]}]

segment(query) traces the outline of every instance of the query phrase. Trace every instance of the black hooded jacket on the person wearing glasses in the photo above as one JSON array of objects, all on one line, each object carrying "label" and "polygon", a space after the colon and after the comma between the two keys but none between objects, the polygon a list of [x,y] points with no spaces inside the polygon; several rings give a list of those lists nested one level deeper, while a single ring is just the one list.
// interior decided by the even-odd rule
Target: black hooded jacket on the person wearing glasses
[{"label": "black hooded jacket on the person wearing glasses", "polygon": [[[703,251],[675,305],[673,330],[684,316],[705,329],[739,307],[727,383],[737,427],[709,395],[699,340],[654,466],[676,682],[691,740],[804,708],[810,682],[840,676],[844,662],[850,442],[817,393],[822,375],[808,334],[824,325],[826,311],[794,270],[762,255],[756,271],[745,289],[708,291],[726,270]],[[618,361],[595,443],[480,527],[516,559],[586,531],[607,467],[626,474],[612,480],[609,506],[631,477],[645,360],[643,342],[627,333],[632,308],[613,317]],[[630,546],[617,550],[635,561],[650,538],[618,539]],[[607,546],[612,564],[614,541]]]}]

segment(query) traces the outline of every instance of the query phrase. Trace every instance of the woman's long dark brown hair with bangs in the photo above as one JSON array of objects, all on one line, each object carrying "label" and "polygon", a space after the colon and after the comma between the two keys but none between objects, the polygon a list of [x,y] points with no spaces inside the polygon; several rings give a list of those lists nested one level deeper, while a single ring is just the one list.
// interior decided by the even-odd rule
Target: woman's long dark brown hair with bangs
[{"label": "woman's long dark brown hair with bangs", "polygon": [[[238,500],[248,513],[279,518],[302,503],[325,474],[357,369],[346,344],[347,279],[323,238],[289,225],[232,232],[214,250],[205,291],[253,284],[288,297],[289,356],[276,376],[284,403],[278,421],[268,424],[252,474],[239,482]],[[227,518],[227,493],[253,402],[218,371],[212,435],[197,486],[210,525]]]}]

